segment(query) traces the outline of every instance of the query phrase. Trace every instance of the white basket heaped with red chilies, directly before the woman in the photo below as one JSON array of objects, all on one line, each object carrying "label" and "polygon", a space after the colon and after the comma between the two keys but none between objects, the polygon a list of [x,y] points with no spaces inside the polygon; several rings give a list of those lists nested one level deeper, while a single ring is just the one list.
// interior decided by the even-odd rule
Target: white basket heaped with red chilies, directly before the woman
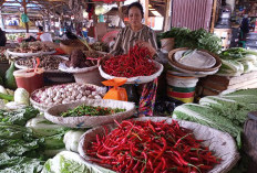
[{"label": "white basket heaped with red chilies, directly before the woman", "polygon": [[128,54],[102,61],[99,71],[105,79],[122,77],[127,78],[126,84],[144,84],[158,77],[163,65],[152,58],[146,47],[135,45]]}]

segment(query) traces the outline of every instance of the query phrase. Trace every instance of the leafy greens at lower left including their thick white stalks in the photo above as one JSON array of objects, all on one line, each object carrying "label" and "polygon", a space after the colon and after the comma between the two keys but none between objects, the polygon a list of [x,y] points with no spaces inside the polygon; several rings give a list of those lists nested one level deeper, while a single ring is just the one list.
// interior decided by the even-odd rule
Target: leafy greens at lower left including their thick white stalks
[{"label": "leafy greens at lower left including their thick white stalks", "polygon": [[82,133],[45,120],[32,107],[0,109],[0,173],[39,173],[60,151],[78,152]]}]

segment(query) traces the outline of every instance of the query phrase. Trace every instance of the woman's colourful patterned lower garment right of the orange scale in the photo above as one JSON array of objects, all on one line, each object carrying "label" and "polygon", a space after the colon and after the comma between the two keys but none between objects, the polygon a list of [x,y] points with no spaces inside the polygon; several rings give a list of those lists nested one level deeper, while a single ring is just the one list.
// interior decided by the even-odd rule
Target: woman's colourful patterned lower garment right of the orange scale
[{"label": "woman's colourful patterned lower garment right of the orange scale", "polygon": [[147,83],[144,85],[143,93],[140,98],[140,116],[153,116],[157,85],[157,78],[155,78],[152,83]]}]

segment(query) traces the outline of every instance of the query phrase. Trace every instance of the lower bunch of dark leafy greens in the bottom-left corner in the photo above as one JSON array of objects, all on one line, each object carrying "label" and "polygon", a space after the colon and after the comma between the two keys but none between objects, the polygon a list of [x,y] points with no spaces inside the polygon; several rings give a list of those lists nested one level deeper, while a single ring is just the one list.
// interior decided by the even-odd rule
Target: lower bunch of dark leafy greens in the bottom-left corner
[{"label": "lower bunch of dark leafy greens in the bottom-left corner", "polygon": [[43,161],[38,154],[42,139],[28,128],[0,123],[0,173],[37,173]]}]

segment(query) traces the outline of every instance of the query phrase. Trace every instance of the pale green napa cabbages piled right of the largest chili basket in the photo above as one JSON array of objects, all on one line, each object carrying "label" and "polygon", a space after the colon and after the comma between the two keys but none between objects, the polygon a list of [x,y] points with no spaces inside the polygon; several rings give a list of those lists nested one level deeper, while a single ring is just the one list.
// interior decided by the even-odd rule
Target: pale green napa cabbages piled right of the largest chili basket
[{"label": "pale green napa cabbages piled right of the largest chili basket", "polygon": [[249,111],[257,107],[257,89],[237,90],[226,95],[207,96],[198,104],[185,104],[175,108],[173,117],[205,125],[237,138]]}]

